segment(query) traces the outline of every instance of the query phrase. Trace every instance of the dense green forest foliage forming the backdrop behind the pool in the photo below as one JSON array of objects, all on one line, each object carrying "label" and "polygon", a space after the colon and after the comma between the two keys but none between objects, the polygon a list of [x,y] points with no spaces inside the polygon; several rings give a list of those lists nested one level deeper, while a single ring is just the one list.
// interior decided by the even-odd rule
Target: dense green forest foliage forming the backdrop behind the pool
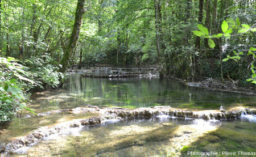
[{"label": "dense green forest foliage forming the backdrop behind the pool", "polygon": [[[57,77],[62,76],[57,69],[71,37],[77,1],[1,2],[2,54],[35,62],[33,67],[34,63],[24,61],[28,70],[35,73],[33,78],[42,86],[56,87],[60,80]],[[250,50],[250,55],[245,55],[255,47],[253,1],[101,0],[86,1],[84,8],[79,40],[73,45],[69,67],[157,64],[163,67],[164,74],[182,79],[254,81],[255,52]],[[44,62],[45,55],[52,61]],[[36,63],[37,58],[40,63]],[[228,60],[221,62],[224,58]],[[250,70],[246,65],[250,65]],[[252,86],[244,82],[240,85]]]}]

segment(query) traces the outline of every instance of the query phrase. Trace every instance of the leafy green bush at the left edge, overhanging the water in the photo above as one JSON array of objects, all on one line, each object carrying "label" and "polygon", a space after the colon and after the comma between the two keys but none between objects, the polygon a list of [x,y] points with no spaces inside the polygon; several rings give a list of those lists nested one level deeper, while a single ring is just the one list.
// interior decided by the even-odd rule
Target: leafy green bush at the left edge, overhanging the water
[{"label": "leafy green bush at the left edge, overhanging the water", "polygon": [[10,121],[18,109],[32,109],[26,107],[27,94],[22,91],[19,81],[35,83],[28,79],[32,74],[26,72],[24,66],[16,63],[14,58],[0,57],[0,123]]}]

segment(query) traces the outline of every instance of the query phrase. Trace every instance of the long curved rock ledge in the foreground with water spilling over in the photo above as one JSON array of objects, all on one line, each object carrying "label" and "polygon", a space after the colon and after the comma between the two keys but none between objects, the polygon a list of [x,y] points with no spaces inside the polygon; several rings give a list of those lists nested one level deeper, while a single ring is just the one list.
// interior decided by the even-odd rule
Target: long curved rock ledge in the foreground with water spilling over
[{"label": "long curved rock ledge in the foreground with water spilling over", "polygon": [[[217,112],[212,111],[212,113],[204,113],[198,111],[183,111],[181,109],[175,109],[171,107],[152,107],[152,108],[137,108],[137,109],[124,109],[124,108],[98,108],[98,107],[87,107],[87,108],[75,108],[75,109],[60,109],[47,114],[56,112],[94,112],[100,114],[100,117],[92,117],[87,119],[72,120],[68,122],[62,122],[60,124],[42,127],[38,130],[31,131],[30,134],[15,139],[7,145],[0,145],[0,153],[15,151],[20,147],[30,146],[52,134],[61,134],[61,131],[65,131],[71,128],[78,128],[80,126],[97,125],[101,124],[101,121],[106,118],[115,118],[121,120],[142,120],[156,118],[158,116],[168,116],[177,118],[191,118],[191,119],[203,119],[208,120],[236,120],[244,114],[255,114],[255,109],[245,109],[244,111],[225,111]],[[39,114],[44,116],[45,114]],[[143,141],[137,141],[138,145],[141,145]],[[1,156],[1,155],[0,155]]]}]

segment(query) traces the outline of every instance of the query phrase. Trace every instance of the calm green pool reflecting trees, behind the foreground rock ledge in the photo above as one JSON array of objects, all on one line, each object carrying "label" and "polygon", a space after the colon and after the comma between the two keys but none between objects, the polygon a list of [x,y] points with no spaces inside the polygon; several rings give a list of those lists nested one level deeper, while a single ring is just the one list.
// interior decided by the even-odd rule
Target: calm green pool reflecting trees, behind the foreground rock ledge
[{"label": "calm green pool reflecting trees, behind the foreground rock ledge", "polygon": [[255,106],[256,97],[188,87],[173,79],[84,78],[71,74],[64,88],[44,92],[30,107],[37,112],[75,108],[83,104],[126,108],[171,105],[175,108],[220,109],[220,106]]}]

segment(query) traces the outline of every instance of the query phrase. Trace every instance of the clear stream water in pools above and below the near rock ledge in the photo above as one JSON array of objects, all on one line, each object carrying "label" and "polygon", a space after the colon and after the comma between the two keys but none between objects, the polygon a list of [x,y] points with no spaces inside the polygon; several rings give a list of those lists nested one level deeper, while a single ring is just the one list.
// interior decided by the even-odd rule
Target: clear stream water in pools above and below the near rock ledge
[{"label": "clear stream water in pools above and below the near rock ledge", "polygon": [[[70,74],[64,88],[34,94],[32,100],[28,107],[36,113],[88,104],[123,108],[170,105],[189,110],[256,107],[255,96],[188,87],[174,79],[84,78],[80,74]],[[97,116],[71,112],[44,117],[23,115],[3,130],[0,141],[11,141],[42,126]],[[168,116],[141,121],[108,120],[101,125],[52,135],[32,147],[20,148],[12,156],[190,156],[189,151],[256,152],[255,122],[255,116],[246,114],[241,120],[222,122]]]}]

